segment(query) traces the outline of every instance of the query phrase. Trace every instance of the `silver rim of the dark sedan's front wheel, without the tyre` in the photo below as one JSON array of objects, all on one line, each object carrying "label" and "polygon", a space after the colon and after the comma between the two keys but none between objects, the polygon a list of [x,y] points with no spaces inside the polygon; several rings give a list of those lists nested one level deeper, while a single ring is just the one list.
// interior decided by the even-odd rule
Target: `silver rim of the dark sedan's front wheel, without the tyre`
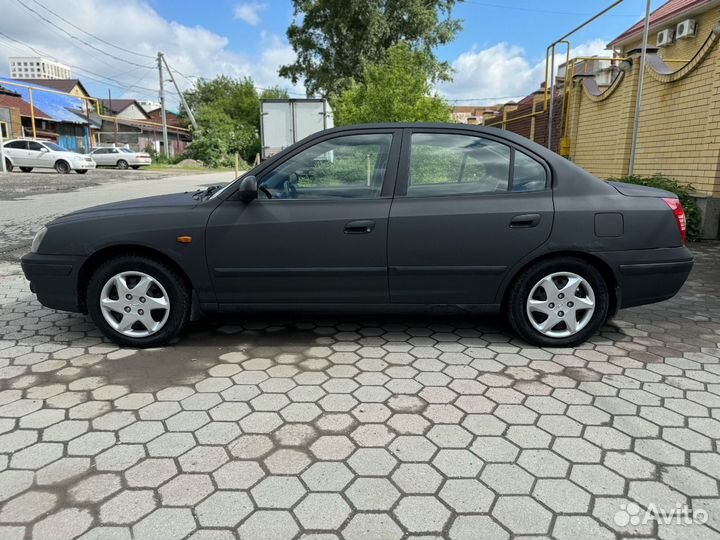
[{"label": "silver rim of the dark sedan's front wheel, without the tyre", "polygon": [[159,332],[170,316],[170,296],[165,287],[144,272],[121,272],[100,292],[100,311],[116,332],[143,338]]}]

